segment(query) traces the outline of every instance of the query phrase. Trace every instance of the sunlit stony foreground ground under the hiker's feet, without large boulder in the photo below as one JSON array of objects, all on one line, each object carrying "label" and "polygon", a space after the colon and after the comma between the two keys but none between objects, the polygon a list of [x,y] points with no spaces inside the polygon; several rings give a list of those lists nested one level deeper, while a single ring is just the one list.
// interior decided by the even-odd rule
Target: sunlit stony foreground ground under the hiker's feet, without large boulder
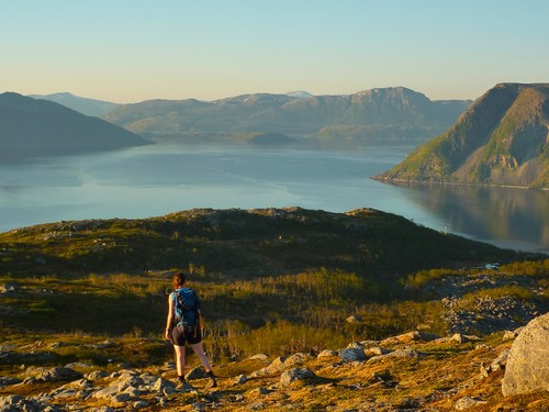
[{"label": "sunlit stony foreground ground under the hiker's feet, without large boulder", "polygon": [[415,331],[320,354],[258,354],[215,365],[216,388],[193,368],[187,375],[193,389],[186,391],[176,388],[171,363],[115,371],[22,365],[0,377],[0,411],[547,411],[547,392],[502,394],[517,333],[480,338]]}]

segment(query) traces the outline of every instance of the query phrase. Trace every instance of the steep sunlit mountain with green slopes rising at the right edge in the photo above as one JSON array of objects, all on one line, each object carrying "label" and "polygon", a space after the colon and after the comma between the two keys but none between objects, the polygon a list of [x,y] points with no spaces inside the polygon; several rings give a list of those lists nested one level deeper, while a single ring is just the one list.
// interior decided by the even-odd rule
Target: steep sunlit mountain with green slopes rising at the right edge
[{"label": "steep sunlit mountain with green slopes rising at the right edge", "polygon": [[500,83],[377,179],[549,188],[549,85]]}]

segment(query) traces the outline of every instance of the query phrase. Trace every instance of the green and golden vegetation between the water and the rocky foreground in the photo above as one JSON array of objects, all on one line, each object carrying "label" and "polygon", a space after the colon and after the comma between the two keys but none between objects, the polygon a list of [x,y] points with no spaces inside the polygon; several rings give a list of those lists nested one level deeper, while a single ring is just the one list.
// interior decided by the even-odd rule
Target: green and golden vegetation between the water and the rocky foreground
[{"label": "green and golden vegetation between the water and the rocky foreground", "polygon": [[[507,261],[498,276],[534,277],[544,288],[549,265],[373,210],[302,209],[38,225],[0,234],[0,285],[19,286],[0,294],[7,342],[122,339],[111,350],[120,353],[109,354],[122,359],[127,342],[150,339],[136,363],[166,357],[173,270],[187,271],[204,301],[206,343],[221,359],[337,348],[419,324],[442,334],[445,308],[433,300],[441,279],[467,279],[481,271],[473,269],[479,264]],[[531,298],[513,287],[478,293]],[[57,352],[93,358],[76,346]],[[104,364],[105,356],[93,361]]]}]

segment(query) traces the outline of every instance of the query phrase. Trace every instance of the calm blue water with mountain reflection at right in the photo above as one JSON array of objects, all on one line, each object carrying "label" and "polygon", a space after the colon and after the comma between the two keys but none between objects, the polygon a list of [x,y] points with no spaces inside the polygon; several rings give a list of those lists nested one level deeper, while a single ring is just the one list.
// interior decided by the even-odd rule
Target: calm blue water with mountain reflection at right
[{"label": "calm blue water with mountain reflection at right", "polygon": [[0,231],[193,208],[373,208],[502,247],[549,253],[548,191],[396,187],[369,178],[411,149],[155,145],[0,165]]}]

